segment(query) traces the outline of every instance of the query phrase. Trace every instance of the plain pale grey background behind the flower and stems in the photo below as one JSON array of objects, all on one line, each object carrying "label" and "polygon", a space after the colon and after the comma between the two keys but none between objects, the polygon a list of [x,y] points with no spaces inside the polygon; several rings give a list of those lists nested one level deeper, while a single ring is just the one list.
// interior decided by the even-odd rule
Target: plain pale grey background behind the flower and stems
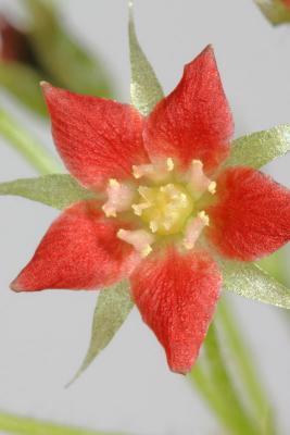
[{"label": "plain pale grey background behind the flower and stems", "polygon": [[[59,3],[65,24],[102,54],[121,99],[128,100],[126,0]],[[14,10],[15,4],[0,0],[1,8]],[[165,91],[176,85],[182,65],[212,42],[237,136],[290,122],[290,26],[273,28],[251,0],[136,0],[136,21]],[[1,104],[52,149],[45,125],[3,95]],[[289,163],[285,158],[270,166],[288,186]],[[30,175],[29,166],[1,142],[0,179]],[[131,434],[217,434],[214,419],[184,377],[167,370],[163,350],[137,311],[81,378],[64,389],[87,349],[97,294],[10,291],[9,283],[58,213],[17,198],[0,198],[0,409]],[[282,433],[289,434],[290,323],[282,310],[231,299]]]}]

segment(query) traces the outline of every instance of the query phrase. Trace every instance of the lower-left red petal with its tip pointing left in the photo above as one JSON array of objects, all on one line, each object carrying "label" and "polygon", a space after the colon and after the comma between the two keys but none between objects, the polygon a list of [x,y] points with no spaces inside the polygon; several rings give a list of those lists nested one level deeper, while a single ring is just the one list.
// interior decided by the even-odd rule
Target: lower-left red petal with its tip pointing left
[{"label": "lower-left red petal with its tip pointing left", "polygon": [[71,207],[51,225],[11,288],[90,289],[122,279],[137,258],[130,245],[116,238],[118,228],[115,221],[102,217],[96,202]]}]

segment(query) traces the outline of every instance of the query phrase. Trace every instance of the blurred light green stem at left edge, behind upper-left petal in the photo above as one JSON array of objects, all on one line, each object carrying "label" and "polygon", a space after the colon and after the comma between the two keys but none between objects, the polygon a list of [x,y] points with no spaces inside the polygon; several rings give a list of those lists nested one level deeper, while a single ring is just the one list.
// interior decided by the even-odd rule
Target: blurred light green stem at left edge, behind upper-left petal
[{"label": "blurred light green stem at left edge, behind upper-left petal", "polygon": [[40,174],[62,172],[62,166],[11,115],[0,110],[0,135]]}]

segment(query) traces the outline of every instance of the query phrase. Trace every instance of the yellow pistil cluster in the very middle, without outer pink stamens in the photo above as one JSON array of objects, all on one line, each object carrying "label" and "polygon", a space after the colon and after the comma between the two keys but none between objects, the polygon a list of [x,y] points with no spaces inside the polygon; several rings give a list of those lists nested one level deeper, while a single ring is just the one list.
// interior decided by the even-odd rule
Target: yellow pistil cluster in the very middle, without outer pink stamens
[{"label": "yellow pistil cluster in the very middle, without outer pink stamens", "polygon": [[177,183],[138,188],[140,202],[133,204],[135,214],[149,224],[152,233],[172,235],[179,233],[193,209],[187,189]]}]

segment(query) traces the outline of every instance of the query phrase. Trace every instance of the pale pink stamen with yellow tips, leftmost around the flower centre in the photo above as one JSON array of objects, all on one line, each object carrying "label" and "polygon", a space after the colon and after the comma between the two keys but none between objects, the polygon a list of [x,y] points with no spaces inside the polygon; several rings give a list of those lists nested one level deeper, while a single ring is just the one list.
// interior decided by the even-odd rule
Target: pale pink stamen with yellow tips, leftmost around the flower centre
[{"label": "pale pink stamen with yellow tips, leftmost around the flower centre", "polygon": [[135,197],[134,188],[110,178],[106,187],[108,201],[102,210],[108,217],[116,217],[117,212],[128,210]]}]

